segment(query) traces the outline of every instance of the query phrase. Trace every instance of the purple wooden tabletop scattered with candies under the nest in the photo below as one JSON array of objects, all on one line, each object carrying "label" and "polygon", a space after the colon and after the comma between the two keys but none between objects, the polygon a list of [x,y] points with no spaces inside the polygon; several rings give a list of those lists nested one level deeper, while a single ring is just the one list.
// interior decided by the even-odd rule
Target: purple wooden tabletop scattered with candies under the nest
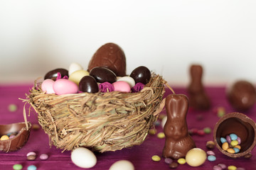
[{"label": "purple wooden tabletop scattered with candies under the nest", "polygon": [[[25,94],[28,93],[29,88],[33,84],[29,85],[0,85],[0,124],[18,123],[23,122],[23,102],[18,98],[26,98]],[[180,87],[173,87],[176,94],[187,94],[186,89]],[[223,106],[227,113],[233,112],[233,108],[230,107],[228,101],[225,98],[224,87],[208,87],[206,89],[208,95],[212,101],[212,108],[209,111],[193,111],[189,110],[187,115],[188,129],[198,128],[203,129],[209,127],[214,128],[215,123],[219,118],[215,113],[215,108]],[[170,94],[169,90],[166,91],[166,95]],[[9,111],[10,104],[15,104],[18,108],[16,111]],[[28,107],[27,107],[28,108]],[[161,114],[165,114],[162,111]],[[256,121],[256,106],[249,112],[245,113],[252,120]],[[198,120],[198,116],[202,116],[202,120]],[[37,123],[36,113],[32,112],[28,121],[31,123]],[[156,126],[157,132],[163,132],[161,126]],[[208,151],[206,148],[206,142],[213,140],[213,132],[210,134],[199,136],[193,135],[193,140],[196,142],[196,146]],[[149,135],[144,143],[132,148],[122,149],[116,152],[95,153],[97,157],[97,164],[92,169],[109,169],[110,166],[121,159],[127,159],[134,164],[135,169],[169,169],[169,165],[164,162],[164,158],[161,157],[161,152],[164,147],[164,139],[159,139],[156,135]],[[28,152],[36,152],[38,157],[34,161],[28,161],[26,154]],[[234,165],[237,167],[243,167],[245,169],[256,169],[256,151],[252,150],[252,157],[250,159],[237,158],[233,159],[221,154],[220,151],[213,149],[217,157],[215,162],[206,162],[202,166],[191,167],[188,164],[179,165],[177,169],[213,169],[216,164]],[[39,159],[40,154],[48,154],[49,158],[46,161]],[[153,162],[151,157],[153,155],[159,155],[161,157],[160,162]],[[31,130],[31,135],[28,142],[24,147],[16,152],[0,152],[0,169],[12,169],[14,164],[22,164],[23,169],[31,164],[34,164],[38,169],[80,169],[75,166],[70,159],[70,151],[62,152],[60,149],[56,149],[55,146],[49,146],[48,135],[43,130]]]}]

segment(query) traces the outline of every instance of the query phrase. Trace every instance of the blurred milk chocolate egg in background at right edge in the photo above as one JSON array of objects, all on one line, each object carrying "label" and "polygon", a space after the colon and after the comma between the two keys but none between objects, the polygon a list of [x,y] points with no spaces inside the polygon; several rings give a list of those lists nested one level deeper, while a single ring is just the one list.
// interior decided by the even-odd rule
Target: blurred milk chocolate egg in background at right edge
[{"label": "blurred milk chocolate egg in background at right edge", "polygon": [[246,111],[256,102],[255,87],[248,81],[236,81],[227,89],[228,101],[238,111]]}]

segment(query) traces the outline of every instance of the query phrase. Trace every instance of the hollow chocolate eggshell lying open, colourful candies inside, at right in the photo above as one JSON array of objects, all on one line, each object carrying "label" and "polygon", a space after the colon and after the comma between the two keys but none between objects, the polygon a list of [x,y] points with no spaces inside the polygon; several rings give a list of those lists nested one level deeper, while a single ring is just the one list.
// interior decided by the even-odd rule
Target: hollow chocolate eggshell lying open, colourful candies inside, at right
[{"label": "hollow chocolate eggshell lying open, colourful candies inside, at right", "polygon": [[[235,133],[241,139],[241,149],[238,153],[228,153],[222,148],[220,137]],[[256,145],[256,124],[242,113],[228,113],[218,120],[213,130],[215,146],[228,157],[247,157]]]}]

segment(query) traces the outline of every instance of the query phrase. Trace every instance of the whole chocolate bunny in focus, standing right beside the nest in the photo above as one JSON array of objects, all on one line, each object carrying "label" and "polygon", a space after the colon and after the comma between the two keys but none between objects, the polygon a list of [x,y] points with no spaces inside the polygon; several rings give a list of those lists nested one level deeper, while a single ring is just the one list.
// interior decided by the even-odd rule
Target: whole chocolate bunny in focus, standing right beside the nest
[{"label": "whole chocolate bunny in focus, standing right beside the nest", "polygon": [[188,150],[196,147],[192,137],[188,135],[186,114],[188,98],[183,94],[170,94],[166,97],[167,120],[164,125],[166,141],[163,156],[172,159],[185,157]]}]

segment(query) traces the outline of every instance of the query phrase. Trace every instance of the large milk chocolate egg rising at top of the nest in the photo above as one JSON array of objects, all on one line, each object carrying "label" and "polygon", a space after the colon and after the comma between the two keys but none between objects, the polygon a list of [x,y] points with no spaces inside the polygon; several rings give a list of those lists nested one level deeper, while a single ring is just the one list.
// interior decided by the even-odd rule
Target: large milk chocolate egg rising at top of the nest
[{"label": "large milk chocolate egg rising at top of the nest", "polygon": [[119,77],[126,75],[126,59],[121,47],[114,43],[102,45],[89,62],[90,72],[94,67],[106,67]]}]

